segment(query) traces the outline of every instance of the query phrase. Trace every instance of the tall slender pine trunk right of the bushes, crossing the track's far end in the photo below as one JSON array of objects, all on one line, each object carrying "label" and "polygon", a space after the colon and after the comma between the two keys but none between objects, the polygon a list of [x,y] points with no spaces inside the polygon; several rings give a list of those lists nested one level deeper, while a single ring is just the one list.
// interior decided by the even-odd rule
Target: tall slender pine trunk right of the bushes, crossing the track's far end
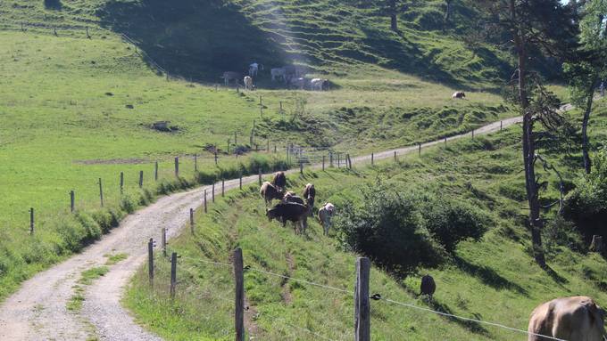
[{"label": "tall slender pine trunk right of the bushes, crossing the track's far end", "polygon": [[536,146],[533,136],[533,113],[528,111],[527,97],[527,52],[525,49],[525,36],[516,27],[516,6],[515,0],[510,0],[511,20],[514,25],[513,36],[514,45],[519,57],[519,97],[520,110],[523,115],[523,163],[525,165],[525,187],[527,190],[527,199],[529,204],[529,226],[531,227],[531,242],[533,244],[533,255],[536,263],[545,268],[544,249],[542,248],[542,220],[540,218],[539,196],[537,192],[535,157]]}]

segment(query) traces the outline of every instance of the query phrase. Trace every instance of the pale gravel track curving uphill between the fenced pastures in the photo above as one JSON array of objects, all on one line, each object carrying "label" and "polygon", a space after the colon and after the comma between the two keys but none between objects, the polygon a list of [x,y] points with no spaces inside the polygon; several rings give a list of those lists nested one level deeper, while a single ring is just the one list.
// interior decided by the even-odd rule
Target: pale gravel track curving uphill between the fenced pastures
[{"label": "pale gravel track curving uphill between the fenced pastures", "polygon": [[[503,127],[520,123],[522,118],[504,119]],[[500,130],[500,122],[478,128],[475,134],[489,134]],[[470,136],[450,137],[453,141]],[[427,142],[422,148],[445,140]],[[376,160],[394,158],[417,152],[418,146],[386,150],[374,155]],[[370,155],[352,158],[353,164],[370,162]],[[313,168],[320,168],[314,165]],[[290,171],[293,173],[296,171]],[[243,183],[255,183],[257,175],[243,178]],[[238,180],[225,183],[226,190],[238,187]],[[215,186],[220,191],[220,186]],[[122,291],[129,278],[146,261],[146,243],[159,239],[162,228],[168,229],[168,238],[175,236],[188,219],[189,208],[203,204],[204,190],[211,186],[172,194],[158,199],[153,205],[129,215],[121,225],[104,238],[86,248],[79,255],[54,265],[25,281],[20,290],[0,306],[0,340],[161,340],[144,330],[120,304]],[[110,266],[110,271],[85,287],[85,301],[79,312],[71,312],[67,304],[75,294],[74,286],[80,272],[104,265],[108,254],[127,254],[128,257]]]}]

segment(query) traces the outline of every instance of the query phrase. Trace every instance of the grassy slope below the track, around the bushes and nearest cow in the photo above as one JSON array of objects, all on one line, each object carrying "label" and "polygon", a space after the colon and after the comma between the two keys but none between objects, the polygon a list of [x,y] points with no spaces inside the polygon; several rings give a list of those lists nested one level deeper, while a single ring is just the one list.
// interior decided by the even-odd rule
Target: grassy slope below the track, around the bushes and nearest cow
[{"label": "grassy slope below the track, around the bushes and nearest cow", "polygon": [[[607,134],[607,106],[601,103],[593,118],[592,141],[600,146]],[[577,119],[579,113],[573,113]],[[581,169],[578,150],[541,152],[559,165],[566,179]],[[401,281],[379,269],[371,273],[371,293],[404,303],[428,306],[483,321],[495,321],[526,329],[528,314],[539,303],[557,296],[593,296],[607,302],[607,262],[595,254],[582,255],[550,246],[553,272],[540,270],[530,254],[529,233],[521,219],[525,214],[523,175],[520,168],[520,127],[503,133],[437,147],[421,158],[410,156],[398,164],[383,162],[354,171],[329,170],[291,177],[289,187],[300,189],[313,182],[318,202],[337,207],[346,200],[360,199],[361,183],[383,179],[406,187],[436,191],[466,200],[485,210],[493,221],[480,242],[463,242],[453,259],[437,269],[420,269],[437,280],[432,303],[417,298],[419,276]],[[544,198],[558,198],[556,179],[550,181]],[[299,191],[299,190],[297,190]],[[353,289],[355,256],[336,248],[335,241],[321,235],[312,223],[308,237],[268,223],[256,189],[231,192],[196,221],[192,236],[184,233],[170,244],[179,259],[178,293],[168,297],[167,260],[158,261],[154,289],[141,269],[132,282],[125,303],[138,320],[169,340],[229,339],[232,328],[233,281],[227,266],[231,249],[244,250],[245,265],[324,285]],[[547,242],[549,240],[546,240]],[[319,339],[308,331],[330,339],[352,337],[352,295],[282,280],[259,272],[245,272],[245,290],[251,310],[247,324],[256,339]],[[513,340],[525,336],[504,329],[465,323],[420,313],[386,302],[372,302],[371,330],[374,339],[399,340]],[[295,326],[295,327],[294,327]]]}]

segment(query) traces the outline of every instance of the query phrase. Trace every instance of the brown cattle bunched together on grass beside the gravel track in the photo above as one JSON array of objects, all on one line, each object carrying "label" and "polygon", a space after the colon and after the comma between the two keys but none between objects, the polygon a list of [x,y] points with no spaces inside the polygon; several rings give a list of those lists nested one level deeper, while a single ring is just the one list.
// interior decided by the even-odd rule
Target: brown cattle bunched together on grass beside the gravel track
[{"label": "brown cattle bunched together on grass beside the gravel track", "polygon": [[[262,183],[260,194],[265,200],[266,215],[270,222],[273,219],[287,226],[287,222],[295,224],[295,233],[304,233],[308,227],[308,217],[313,216],[314,200],[316,199],[316,189],[312,183],[308,183],[303,188],[302,196],[297,196],[293,191],[287,191],[287,176],[285,172],[278,172],[272,178],[271,183]],[[274,207],[272,200],[277,199],[280,202]],[[335,206],[331,203],[324,203],[318,211],[320,225],[325,235],[328,235],[328,229],[331,225],[331,217],[335,213]]]}]

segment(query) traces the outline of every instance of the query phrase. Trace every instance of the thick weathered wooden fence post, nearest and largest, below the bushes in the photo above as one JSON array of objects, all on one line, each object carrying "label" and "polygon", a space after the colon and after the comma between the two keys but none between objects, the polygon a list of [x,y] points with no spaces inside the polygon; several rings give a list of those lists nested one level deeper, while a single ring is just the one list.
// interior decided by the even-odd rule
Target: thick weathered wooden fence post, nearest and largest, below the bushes
[{"label": "thick weathered wooden fence post, nearest and largest, below the bushes", "polygon": [[370,341],[369,274],[369,258],[359,257],[356,260],[356,287],[354,287],[355,341]]}]

